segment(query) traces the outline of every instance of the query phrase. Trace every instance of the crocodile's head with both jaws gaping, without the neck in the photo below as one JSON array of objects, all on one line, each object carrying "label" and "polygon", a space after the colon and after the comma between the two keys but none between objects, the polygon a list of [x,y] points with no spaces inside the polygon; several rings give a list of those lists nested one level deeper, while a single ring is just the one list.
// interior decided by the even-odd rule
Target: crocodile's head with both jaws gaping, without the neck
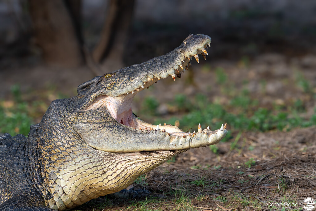
[{"label": "crocodile's head with both jaws gaping, without the neck", "polygon": [[90,146],[106,152],[186,150],[218,143],[226,135],[226,126],[216,131],[184,133],[172,125],[152,125],[132,112],[134,96],[158,80],[180,78],[197,54],[205,58],[207,35],[189,35],[182,44],[163,56],[139,65],[125,67],[81,84],[78,91],[74,129]]}]

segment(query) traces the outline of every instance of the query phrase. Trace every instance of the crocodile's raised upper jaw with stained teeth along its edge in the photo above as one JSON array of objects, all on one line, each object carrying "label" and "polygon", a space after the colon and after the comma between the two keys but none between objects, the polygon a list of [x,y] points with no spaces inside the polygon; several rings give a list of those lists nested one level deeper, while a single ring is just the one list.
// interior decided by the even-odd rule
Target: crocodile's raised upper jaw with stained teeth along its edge
[{"label": "crocodile's raised upper jaw with stained teeth along its edge", "polygon": [[[181,77],[191,63],[192,57],[199,62],[198,54],[202,54],[204,59],[208,55],[206,48],[210,46],[211,38],[204,34],[189,35],[182,44],[173,51],[150,59],[142,64],[132,65],[116,71],[108,80],[107,90],[109,96],[125,96],[136,94],[137,92],[148,88],[161,78],[171,76],[173,80]],[[104,93],[100,92],[100,95]]]}]

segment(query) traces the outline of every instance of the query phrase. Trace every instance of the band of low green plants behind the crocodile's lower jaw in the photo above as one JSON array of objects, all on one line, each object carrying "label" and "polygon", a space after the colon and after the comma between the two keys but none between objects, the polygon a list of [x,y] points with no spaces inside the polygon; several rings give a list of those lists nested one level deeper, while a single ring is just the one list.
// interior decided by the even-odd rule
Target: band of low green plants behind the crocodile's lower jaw
[{"label": "band of low green plants behind the crocodile's lower jaw", "polygon": [[[153,100],[149,99],[150,101]],[[157,108],[157,104],[152,104],[154,105],[151,107],[152,110]],[[259,107],[258,100],[252,100],[247,90],[243,90],[240,96],[234,97],[229,105],[210,102],[206,96],[199,94],[194,99],[188,99],[184,95],[177,96],[170,105],[180,108],[178,113],[182,115],[171,115],[172,117],[170,118],[161,118],[159,115],[153,115],[152,117],[155,121],[152,123],[166,122],[174,125],[176,121],[179,121],[180,128],[183,131],[187,131],[190,128],[197,128],[199,123],[202,125],[202,128],[210,126],[214,130],[220,128],[222,123],[227,122],[229,129],[232,130],[261,132],[276,129],[288,131],[295,127],[316,125],[316,109],[309,119],[301,117],[300,114],[305,112],[304,103],[301,100],[296,100],[291,105],[287,105],[286,108],[272,110]],[[140,110],[143,110],[143,108]],[[184,110],[185,112],[182,112]],[[229,110],[234,110],[234,112],[229,112]],[[193,132],[193,130],[191,129],[190,132]],[[228,140],[230,138],[232,138],[231,134],[228,134],[225,139]],[[216,149],[212,150],[216,152]]]}]

